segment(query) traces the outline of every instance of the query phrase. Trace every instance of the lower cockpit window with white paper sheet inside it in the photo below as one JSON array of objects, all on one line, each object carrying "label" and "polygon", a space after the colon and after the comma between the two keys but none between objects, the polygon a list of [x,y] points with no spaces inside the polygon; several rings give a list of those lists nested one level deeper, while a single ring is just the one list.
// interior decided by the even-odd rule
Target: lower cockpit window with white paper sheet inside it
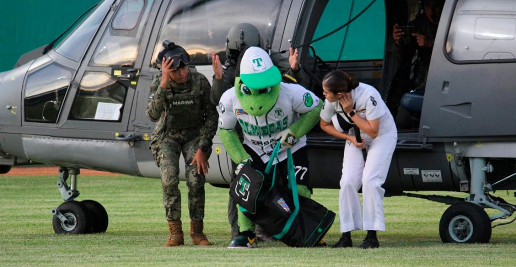
[{"label": "lower cockpit window with white paper sheet inside it", "polygon": [[120,121],[127,86],[103,72],[87,72],[80,81],[70,119]]}]

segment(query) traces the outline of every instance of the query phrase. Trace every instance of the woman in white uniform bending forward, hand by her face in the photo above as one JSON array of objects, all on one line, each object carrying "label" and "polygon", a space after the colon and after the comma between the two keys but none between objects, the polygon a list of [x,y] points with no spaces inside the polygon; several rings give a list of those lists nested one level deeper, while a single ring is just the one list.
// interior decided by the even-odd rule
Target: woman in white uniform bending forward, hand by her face
[{"label": "woman in white uniform bending forward, hand by her face", "polygon": [[[359,248],[376,248],[376,231],[385,230],[383,193],[391,158],[396,147],[397,130],[394,119],[378,91],[359,83],[343,71],[332,71],[322,81],[326,100],[320,113],[321,129],[346,140],[338,211],[342,237],[333,247],[351,247],[351,231],[366,230],[367,236]],[[354,124],[349,132],[337,130],[334,115]],[[337,127],[335,127],[337,126]],[[360,131],[361,142],[355,131]],[[367,155],[362,149],[366,149]],[[358,191],[362,186],[364,213],[362,217]]]}]

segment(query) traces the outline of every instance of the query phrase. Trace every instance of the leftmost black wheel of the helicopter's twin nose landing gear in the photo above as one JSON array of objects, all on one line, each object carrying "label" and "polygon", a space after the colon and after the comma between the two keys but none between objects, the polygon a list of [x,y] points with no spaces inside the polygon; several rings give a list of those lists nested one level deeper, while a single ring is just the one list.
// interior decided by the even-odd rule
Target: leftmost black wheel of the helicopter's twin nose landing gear
[{"label": "leftmost black wheel of the helicopter's twin nose landing gear", "polygon": [[54,215],[52,222],[55,233],[89,233],[91,231],[91,216],[89,210],[80,202],[69,201],[57,207],[63,219]]}]

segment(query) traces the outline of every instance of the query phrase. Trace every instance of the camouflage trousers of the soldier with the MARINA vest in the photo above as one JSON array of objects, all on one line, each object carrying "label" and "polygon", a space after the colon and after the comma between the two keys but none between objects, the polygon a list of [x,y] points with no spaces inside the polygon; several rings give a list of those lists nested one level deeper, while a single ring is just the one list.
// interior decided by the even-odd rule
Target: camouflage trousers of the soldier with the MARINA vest
[{"label": "camouflage trousers of the soldier with the MARINA vest", "polygon": [[[189,165],[199,148],[199,131],[178,130],[177,135],[167,135],[160,141],[161,155],[159,170],[163,186],[163,206],[168,221],[181,219],[181,192],[179,191],[179,158],[183,154],[188,186],[188,209],[190,219],[204,219],[204,182],[203,174],[197,173],[197,164]],[[211,148],[206,156],[211,154]]]}]

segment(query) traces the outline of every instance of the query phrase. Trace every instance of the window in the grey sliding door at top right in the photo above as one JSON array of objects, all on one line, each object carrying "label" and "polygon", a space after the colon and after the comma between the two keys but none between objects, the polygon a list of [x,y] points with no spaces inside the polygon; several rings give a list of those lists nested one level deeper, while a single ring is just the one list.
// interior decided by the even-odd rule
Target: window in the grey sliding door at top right
[{"label": "window in the grey sliding door at top right", "polygon": [[457,61],[516,60],[516,6],[513,1],[457,2],[446,53]]}]

